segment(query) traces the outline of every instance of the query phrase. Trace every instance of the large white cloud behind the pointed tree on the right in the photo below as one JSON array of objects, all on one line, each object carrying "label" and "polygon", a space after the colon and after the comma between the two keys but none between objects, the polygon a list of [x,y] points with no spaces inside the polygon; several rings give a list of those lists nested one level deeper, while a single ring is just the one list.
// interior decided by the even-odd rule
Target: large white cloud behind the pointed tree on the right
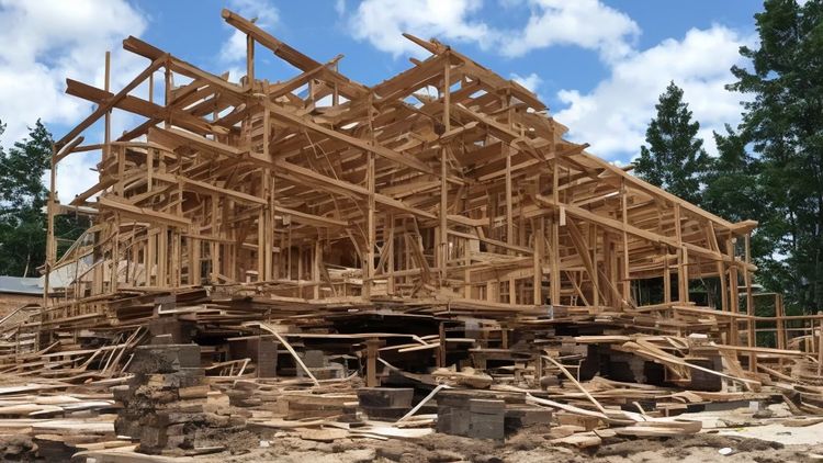
[{"label": "large white cloud behind the pointed tree on the right", "polygon": [[684,90],[684,100],[700,122],[709,153],[715,150],[711,131],[740,121],[741,95],[725,90],[729,69],[742,64],[739,48],[751,42],[721,25],[692,29],[680,39],[667,38],[610,65],[610,76],[588,93],[562,90],[566,108],[555,118],[570,127],[568,137],[591,144],[593,153],[629,160],[645,139],[655,103],[669,81]]}]

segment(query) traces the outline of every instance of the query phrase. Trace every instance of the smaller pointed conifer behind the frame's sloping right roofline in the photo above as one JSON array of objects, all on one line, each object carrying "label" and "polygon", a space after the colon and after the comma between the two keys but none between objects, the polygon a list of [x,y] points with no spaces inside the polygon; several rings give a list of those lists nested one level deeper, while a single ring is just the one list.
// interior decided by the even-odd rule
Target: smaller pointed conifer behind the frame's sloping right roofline
[{"label": "smaller pointed conifer behind the frame's sloping right roofline", "polygon": [[703,140],[697,137],[700,124],[683,101],[683,90],[670,82],[655,105],[657,115],[646,129],[646,143],[640,148],[634,173],[686,201],[700,202],[700,176],[708,156]]}]

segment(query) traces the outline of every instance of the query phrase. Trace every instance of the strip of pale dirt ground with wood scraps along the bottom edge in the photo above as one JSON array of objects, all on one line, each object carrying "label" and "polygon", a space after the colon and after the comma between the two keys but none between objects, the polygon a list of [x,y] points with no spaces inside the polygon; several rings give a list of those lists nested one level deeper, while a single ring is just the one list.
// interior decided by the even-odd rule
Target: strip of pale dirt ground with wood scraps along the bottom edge
[{"label": "strip of pale dirt ground with wood scraps along the bottom edge", "polygon": [[[699,415],[699,414],[697,414]],[[719,420],[739,424],[724,429],[675,438],[624,439],[607,438],[595,448],[576,449],[550,442],[550,430],[525,429],[505,443],[462,438],[449,434],[430,434],[420,439],[339,439],[317,441],[302,439],[293,432],[271,432],[257,436],[249,431],[227,432],[215,440],[227,445],[225,451],[200,456],[147,456],[146,461],[169,462],[805,462],[823,460],[823,445],[819,436],[823,424],[808,427],[786,427],[745,417],[736,410],[714,414]],[[30,437],[3,436],[0,438],[4,461],[32,461],[34,442]],[[122,450],[108,452],[111,456]],[[111,458],[110,456],[110,458]],[[134,458],[134,454],[129,454]],[[66,455],[66,461],[71,455]],[[92,458],[93,459],[93,458]],[[106,461],[106,459],[102,459]],[[76,461],[88,461],[82,458]],[[94,460],[91,460],[94,461]],[[117,461],[114,459],[108,461]],[[138,460],[120,460],[138,461]]]}]

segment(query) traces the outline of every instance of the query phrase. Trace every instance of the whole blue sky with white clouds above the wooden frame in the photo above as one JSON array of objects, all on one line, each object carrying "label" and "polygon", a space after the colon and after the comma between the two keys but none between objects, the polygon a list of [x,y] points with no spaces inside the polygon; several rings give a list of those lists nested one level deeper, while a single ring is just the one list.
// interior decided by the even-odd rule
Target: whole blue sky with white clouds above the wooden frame
[{"label": "whole blue sky with white clouds above the wooden frame", "polygon": [[[669,80],[685,90],[701,135],[740,120],[741,95],[723,89],[729,68],[753,44],[755,0],[0,0],[0,145],[43,117],[59,138],[92,108],[64,95],[65,78],[102,86],[103,54],[113,52],[116,91],[146,66],[120,41],[128,35],[215,74],[243,68],[239,36],[221,18],[229,8],[317,60],[338,54],[340,70],[374,84],[425,57],[399,36],[406,31],[470,55],[499,75],[531,88],[567,125],[567,137],[590,151],[630,162],[643,143],[654,103]],[[234,41],[233,41],[234,37]],[[263,49],[258,77],[296,74]],[[135,120],[115,114],[115,133]],[[99,127],[89,137],[99,136]],[[93,182],[94,154],[69,158],[58,184],[71,197]]]}]

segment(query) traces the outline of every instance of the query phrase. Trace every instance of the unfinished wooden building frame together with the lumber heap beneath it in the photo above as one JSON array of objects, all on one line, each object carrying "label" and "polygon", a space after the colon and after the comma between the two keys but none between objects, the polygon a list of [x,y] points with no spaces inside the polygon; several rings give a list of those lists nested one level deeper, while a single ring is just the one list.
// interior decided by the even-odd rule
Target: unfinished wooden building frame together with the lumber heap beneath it
[{"label": "unfinished wooden building frame together with the lumber heap beneath it", "polygon": [[[149,64],[117,93],[67,80],[98,106],[55,144],[44,304],[0,320],[3,377],[113,391],[117,433],[169,454],[219,450],[210,429],[532,428],[586,447],[697,432],[677,417],[751,402],[823,410],[823,316],[754,291],[756,223],[587,153],[533,93],[437,41],[407,35],[430,57],[365,86],[223,18],[247,37],[239,80],[135,37]],[[257,52],[296,75],[261,79]],[[145,122],[114,138],[119,111]],[[60,162],[90,153],[98,182],[61,204]],[[94,225],[57,256],[66,213]],[[8,398],[13,427],[74,413]]]}]

